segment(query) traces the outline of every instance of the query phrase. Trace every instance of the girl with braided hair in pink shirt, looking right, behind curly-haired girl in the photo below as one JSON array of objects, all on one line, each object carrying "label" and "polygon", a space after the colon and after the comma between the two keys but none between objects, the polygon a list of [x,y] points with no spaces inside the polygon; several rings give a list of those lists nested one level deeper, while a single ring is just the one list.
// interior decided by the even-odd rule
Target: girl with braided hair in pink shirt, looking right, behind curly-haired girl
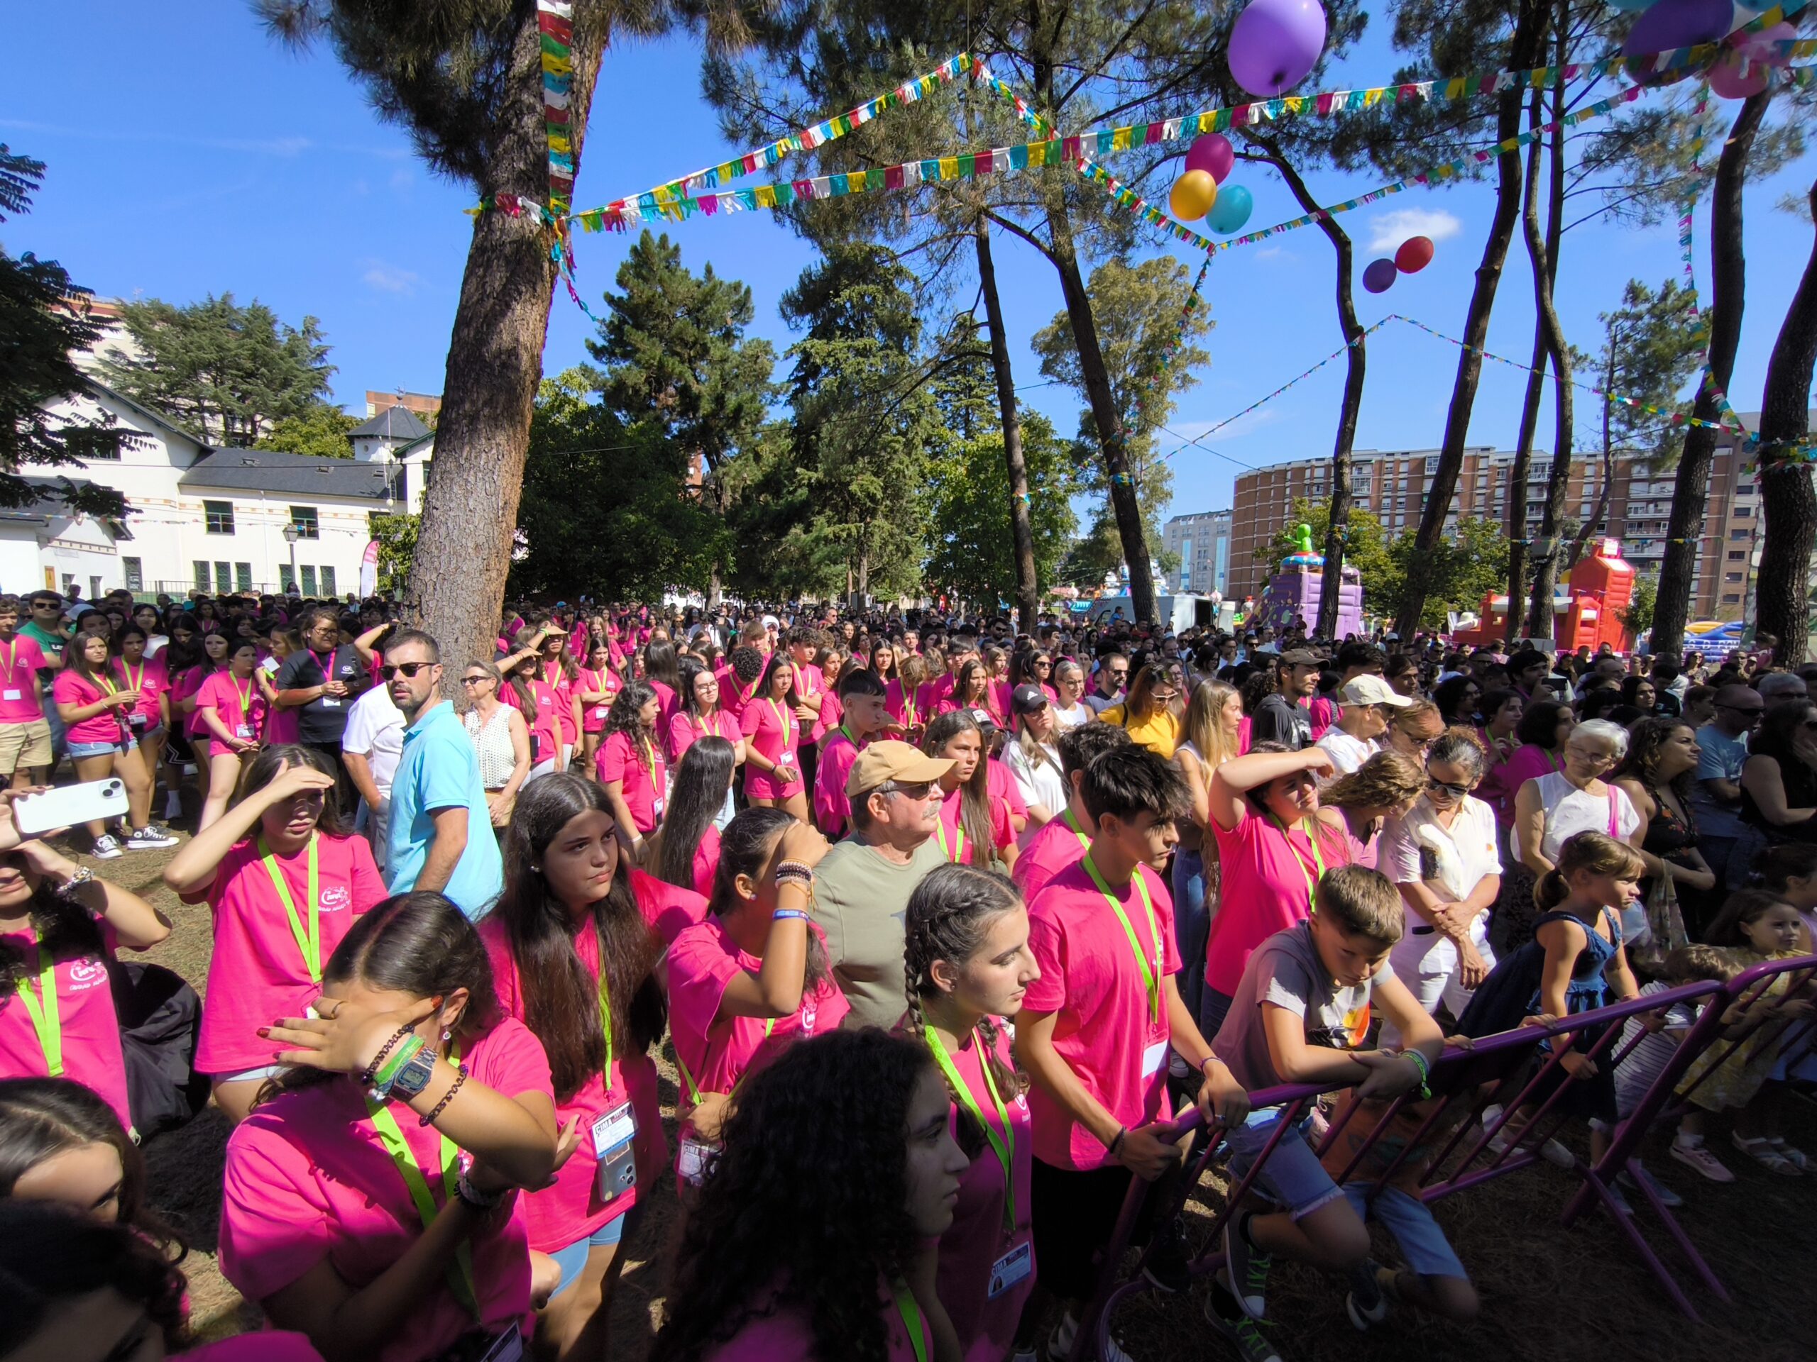
[{"label": "girl with braided hair in pink shirt, looking right, behind curly-haired girl", "polygon": [[903,930],[908,1012],[899,1030],[939,1066],[952,1133],[970,1159],[939,1240],[939,1302],[965,1358],[1001,1358],[1034,1289],[1028,1084],[999,1024],[1041,977],[1028,910],[1003,875],[947,864],[916,886]]}]

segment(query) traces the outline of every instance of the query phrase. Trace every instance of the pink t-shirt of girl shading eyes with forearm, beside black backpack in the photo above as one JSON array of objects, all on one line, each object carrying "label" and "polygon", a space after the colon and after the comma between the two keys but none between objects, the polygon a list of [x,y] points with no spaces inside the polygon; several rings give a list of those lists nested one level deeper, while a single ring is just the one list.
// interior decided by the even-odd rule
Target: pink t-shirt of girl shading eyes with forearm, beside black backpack
[{"label": "pink t-shirt of girl shading eyes with forearm, beside black backpack", "polygon": [[[273,854],[291,890],[296,921],[309,932],[309,852]],[[385,901],[385,881],[365,837],[316,834],[316,923],[320,962],[340,946],[352,919]],[[283,899],[265,870],[258,839],[236,843],[214,870],[214,883],[191,903],[207,899],[214,915],[214,953],[202,1004],[196,1068],[202,1073],[238,1073],[274,1062],[283,1048],[260,1041],[258,1028],[278,1017],[302,1017],[322,993],[309,977]]]}]

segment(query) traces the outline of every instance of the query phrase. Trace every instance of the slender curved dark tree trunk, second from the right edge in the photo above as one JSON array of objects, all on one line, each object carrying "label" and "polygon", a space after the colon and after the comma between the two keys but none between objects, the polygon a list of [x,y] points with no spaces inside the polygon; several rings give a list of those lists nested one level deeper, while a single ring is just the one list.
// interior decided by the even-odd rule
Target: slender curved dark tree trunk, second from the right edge
[{"label": "slender curved dark tree trunk, second from the right edge", "polygon": [[[1741,191],[1748,180],[1748,154],[1766,118],[1772,89],[1748,96],[1723,143],[1710,196],[1710,372],[1697,387],[1692,416],[1715,421],[1723,416],[1715,394],[1728,392],[1741,345],[1741,314],[1748,262],[1741,242]],[[1681,652],[1690,619],[1692,579],[1703,548],[1703,514],[1710,496],[1717,432],[1693,425],[1684,432],[1677,479],[1672,485],[1672,518],[1666,521],[1666,554],[1659,563],[1659,597],[1653,605],[1653,652]],[[1721,556],[1715,572],[1723,570]]]}]

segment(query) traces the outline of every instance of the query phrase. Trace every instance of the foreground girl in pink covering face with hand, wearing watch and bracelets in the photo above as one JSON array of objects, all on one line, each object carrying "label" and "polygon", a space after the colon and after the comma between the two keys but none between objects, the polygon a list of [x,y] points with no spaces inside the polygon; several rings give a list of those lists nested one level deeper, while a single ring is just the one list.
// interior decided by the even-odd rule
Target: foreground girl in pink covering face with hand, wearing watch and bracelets
[{"label": "foreground girl in pink covering face with hand, wearing watch and bracelets", "polygon": [[[543,1048],[500,1015],[478,932],[440,893],[387,899],[327,961],[314,1012],[273,1019],[296,1068],[227,1140],[222,1275],[331,1357],[478,1357],[521,1333],[531,1255],[512,1189],[549,1180],[556,1108]],[[442,1217],[454,1231],[425,1233]],[[398,1269],[418,1289],[400,1297]]]}]

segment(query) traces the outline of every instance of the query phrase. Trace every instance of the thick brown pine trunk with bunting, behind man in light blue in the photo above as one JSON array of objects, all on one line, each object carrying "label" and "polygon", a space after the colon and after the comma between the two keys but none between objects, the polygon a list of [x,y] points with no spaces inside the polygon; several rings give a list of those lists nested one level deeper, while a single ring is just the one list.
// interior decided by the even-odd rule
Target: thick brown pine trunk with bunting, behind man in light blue
[{"label": "thick brown pine trunk with bunting, behind man in light blue", "polygon": [[[600,27],[576,25],[574,33],[576,169],[600,74]],[[511,80],[501,98],[509,116],[501,113],[500,123],[507,131],[492,149],[491,182],[480,192],[543,202],[549,140],[534,5],[518,7]],[[554,281],[547,232],[538,222],[498,211],[474,220],[442,383],[434,476],[423,494],[405,601],[407,617],[442,645],[449,697],[458,694],[462,661],[491,657],[498,636]]]}]

